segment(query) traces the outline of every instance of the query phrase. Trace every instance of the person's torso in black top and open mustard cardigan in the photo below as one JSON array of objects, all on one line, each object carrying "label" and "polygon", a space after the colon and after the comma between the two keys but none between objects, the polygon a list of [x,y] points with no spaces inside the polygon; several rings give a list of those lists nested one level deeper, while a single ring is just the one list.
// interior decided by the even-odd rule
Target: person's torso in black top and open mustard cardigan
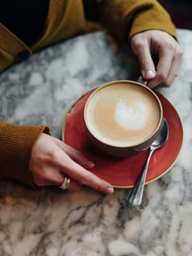
[{"label": "person's torso in black top and open mustard cardigan", "polygon": [[6,0],[0,4],[0,72],[35,51],[84,33],[85,24],[82,0]]}]

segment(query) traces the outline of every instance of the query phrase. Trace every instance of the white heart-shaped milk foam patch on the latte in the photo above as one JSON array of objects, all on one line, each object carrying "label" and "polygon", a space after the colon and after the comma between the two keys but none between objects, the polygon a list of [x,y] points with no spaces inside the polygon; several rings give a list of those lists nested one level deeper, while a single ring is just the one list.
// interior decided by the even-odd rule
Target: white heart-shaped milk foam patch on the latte
[{"label": "white heart-shaped milk foam patch on the latte", "polygon": [[143,102],[135,102],[127,106],[125,102],[118,102],[115,110],[116,122],[125,129],[142,129],[147,122],[147,108]]}]

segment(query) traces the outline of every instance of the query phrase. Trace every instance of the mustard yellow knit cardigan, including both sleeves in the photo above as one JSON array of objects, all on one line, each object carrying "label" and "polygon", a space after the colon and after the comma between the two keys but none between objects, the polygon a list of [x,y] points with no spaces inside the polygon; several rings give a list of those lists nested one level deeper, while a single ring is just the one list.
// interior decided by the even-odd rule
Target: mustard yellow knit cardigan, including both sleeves
[{"label": "mustard yellow knit cardigan, including both sleeves", "polygon": [[[84,8],[90,10],[90,20],[102,24],[120,40],[148,29],[160,29],[176,38],[170,16],[156,0],[84,0],[84,5],[82,0],[50,0],[42,35],[30,48],[0,23],[0,71],[19,61],[20,52],[33,54],[47,45],[90,31],[94,26],[86,20]],[[49,133],[49,128],[0,122],[0,177],[33,185],[31,152],[42,132]]]}]

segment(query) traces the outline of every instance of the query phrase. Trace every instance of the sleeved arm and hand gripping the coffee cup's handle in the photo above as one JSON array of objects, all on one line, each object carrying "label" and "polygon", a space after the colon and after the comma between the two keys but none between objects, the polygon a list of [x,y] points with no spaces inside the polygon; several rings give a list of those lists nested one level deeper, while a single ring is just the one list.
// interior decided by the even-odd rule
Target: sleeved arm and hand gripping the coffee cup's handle
[{"label": "sleeved arm and hand gripping the coffee cup's handle", "polygon": [[[88,19],[99,20],[109,32],[122,42],[131,42],[138,56],[141,74],[150,80],[150,88],[172,84],[182,60],[182,49],[177,42],[177,31],[172,19],[156,0],[88,1],[84,0]],[[95,3],[95,6],[90,6]],[[92,7],[92,8],[91,8]],[[155,67],[152,56],[159,58]]]}]

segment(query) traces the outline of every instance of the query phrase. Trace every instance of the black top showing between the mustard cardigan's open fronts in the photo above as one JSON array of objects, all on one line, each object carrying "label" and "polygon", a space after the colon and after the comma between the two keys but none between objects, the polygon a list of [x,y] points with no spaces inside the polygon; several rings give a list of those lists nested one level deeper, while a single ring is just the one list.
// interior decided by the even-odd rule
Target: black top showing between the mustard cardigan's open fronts
[{"label": "black top showing between the mustard cardigan's open fronts", "polygon": [[0,22],[31,45],[42,32],[49,8],[49,0],[6,0],[0,4]]}]

